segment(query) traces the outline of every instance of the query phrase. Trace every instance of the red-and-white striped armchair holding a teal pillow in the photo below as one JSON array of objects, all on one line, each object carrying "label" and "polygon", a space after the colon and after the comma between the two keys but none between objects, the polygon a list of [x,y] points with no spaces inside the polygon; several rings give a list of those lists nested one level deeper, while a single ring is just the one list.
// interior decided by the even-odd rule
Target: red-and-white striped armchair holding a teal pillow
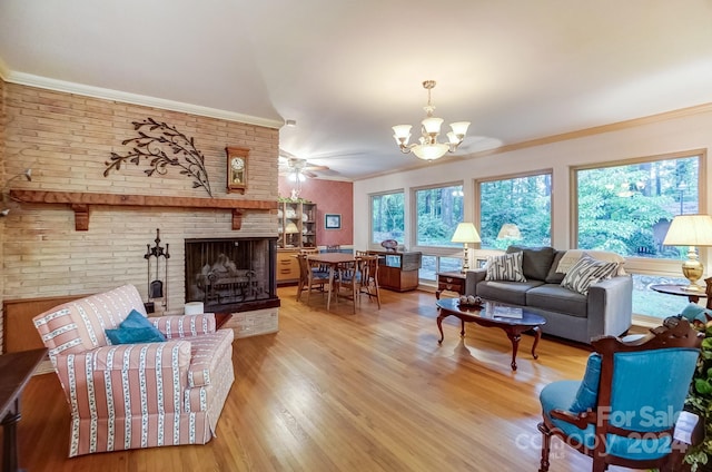
[{"label": "red-and-white striped armchair holding a teal pillow", "polygon": [[205,444],[215,435],[233,372],[233,331],[212,314],[148,321],[165,342],[111,344],[131,311],[132,285],[66,303],[33,318],[71,409],[69,456]]}]

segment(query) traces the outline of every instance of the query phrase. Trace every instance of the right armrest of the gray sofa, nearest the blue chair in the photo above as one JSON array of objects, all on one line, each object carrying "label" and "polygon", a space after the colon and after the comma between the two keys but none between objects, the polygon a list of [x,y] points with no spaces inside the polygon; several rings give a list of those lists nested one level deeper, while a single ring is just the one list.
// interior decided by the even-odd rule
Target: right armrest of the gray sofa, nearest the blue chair
[{"label": "right armrest of the gray sofa, nearest the blue chair", "polygon": [[633,277],[606,278],[589,288],[589,338],[620,336],[633,324]]}]

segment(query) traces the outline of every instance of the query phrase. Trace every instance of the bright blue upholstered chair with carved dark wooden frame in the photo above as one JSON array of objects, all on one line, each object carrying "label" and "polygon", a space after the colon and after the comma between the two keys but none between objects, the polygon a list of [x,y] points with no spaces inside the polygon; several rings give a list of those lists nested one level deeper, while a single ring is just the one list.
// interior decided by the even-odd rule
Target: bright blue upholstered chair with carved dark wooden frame
[{"label": "bright blue upholstered chair with carved dark wooden frame", "polygon": [[680,470],[672,434],[703,336],[685,318],[671,317],[635,341],[593,341],[584,378],[553,382],[540,394],[540,472],[548,471],[552,436],[591,456],[594,472],[610,464]]}]

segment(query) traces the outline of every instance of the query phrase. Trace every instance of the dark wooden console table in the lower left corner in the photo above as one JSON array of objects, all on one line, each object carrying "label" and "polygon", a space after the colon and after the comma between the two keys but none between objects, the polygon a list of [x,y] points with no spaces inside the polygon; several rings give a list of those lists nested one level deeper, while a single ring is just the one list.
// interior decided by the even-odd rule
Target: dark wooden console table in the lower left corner
[{"label": "dark wooden console table in the lower left corner", "polygon": [[0,355],[0,417],[2,419],[2,471],[18,468],[17,423],[20,421],[20,395],[32,372],[44,358],[47,348]]}]

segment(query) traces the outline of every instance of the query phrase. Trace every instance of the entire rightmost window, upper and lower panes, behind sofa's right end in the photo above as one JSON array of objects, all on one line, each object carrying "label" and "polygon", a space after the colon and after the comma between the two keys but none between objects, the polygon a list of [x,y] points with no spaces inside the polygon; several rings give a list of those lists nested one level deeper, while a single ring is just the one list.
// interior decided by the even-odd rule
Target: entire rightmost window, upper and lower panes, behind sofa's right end
[{"label": "entire rightmost window, upper and lower panes, behind sofa's right end", "polygon": [[678,263],[686,248],[662,243],[673,217],[700,213],[704,156],[698,150],[572,170],[576,246],[629,258],[635,315],[665,318],[688,303],[649,287],[688,283]]}]

